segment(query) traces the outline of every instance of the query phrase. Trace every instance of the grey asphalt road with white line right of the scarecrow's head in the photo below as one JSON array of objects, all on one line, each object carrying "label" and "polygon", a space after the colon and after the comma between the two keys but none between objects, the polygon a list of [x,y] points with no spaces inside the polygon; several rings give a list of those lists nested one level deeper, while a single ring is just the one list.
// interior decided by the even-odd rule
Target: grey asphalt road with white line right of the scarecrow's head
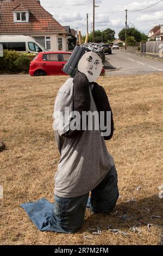
[{"label": "grey asphalt road with white line right of the scarecrow's head", "polygon": [[137,54],[112,50],[106,55],[106,75],[136,75],[149,72],[163,72],[163,62]]}]

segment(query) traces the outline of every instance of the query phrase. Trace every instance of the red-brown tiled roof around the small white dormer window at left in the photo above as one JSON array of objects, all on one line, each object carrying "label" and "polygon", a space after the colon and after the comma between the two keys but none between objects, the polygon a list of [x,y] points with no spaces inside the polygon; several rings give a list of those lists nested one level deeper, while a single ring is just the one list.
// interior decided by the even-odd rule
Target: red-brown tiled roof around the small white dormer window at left
[{"label": "red-brown tiled roof around the small white dormer window at left", "polygon": [[[29,22],[14,22],[13,10],[22,7],[30,11]],[[0,34],[54,32],[64,33],[65,29],[36,0],[0,1]]]}]

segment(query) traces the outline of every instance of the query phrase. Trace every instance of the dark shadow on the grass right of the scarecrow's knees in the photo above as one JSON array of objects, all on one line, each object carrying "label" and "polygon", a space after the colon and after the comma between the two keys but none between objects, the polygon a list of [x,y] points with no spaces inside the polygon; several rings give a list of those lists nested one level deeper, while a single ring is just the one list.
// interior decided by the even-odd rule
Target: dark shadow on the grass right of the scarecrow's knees
[{"label": "dark shadow on the grass right of the scarecrow's knees", "polygon": [[[134,226],[137,228],[146,227],[148,231],[148,224],[156,225],[158,228],[163,228],[162,200],[163,199],[160,199],[158,194],[149,198],[137,200],[136,202],[121,202],[120,198],[118,199],[115,209],[112,211],[113,213],[117,211],[116,215],[90,214],[90,210],[87,210],[86,220],[82,227],[81,233],[86,230],[90,231],[89,228],[96,228],[97,226],[101,229],[101,231],[108,230],[109,225],[111,225],[111,229],[120,229],[127,233],[129,232],[129,228]],[[129,220],[123,219],[123,215],[126,215]],[[152,217],[153,215],[161,216],[161,218]]]}]

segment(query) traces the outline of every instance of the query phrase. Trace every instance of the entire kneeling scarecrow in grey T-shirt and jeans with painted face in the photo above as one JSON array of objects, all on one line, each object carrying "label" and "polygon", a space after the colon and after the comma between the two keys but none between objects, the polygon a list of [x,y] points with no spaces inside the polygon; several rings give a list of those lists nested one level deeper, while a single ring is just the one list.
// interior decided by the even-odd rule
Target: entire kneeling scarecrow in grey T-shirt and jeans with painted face
[{"label": "entire kneeling scarecrow in grey T-shirt and jeans with painted face", "polygon": [[102,54],[97,45],[77,45],[64,67],[71,77],[59,89],[54,106],[61,155],[55,203],[41,199],[21,205],[41,231],[74,233],[82,226],[86,207],[95,214],[109,213],[117,202],[117,172],[105,144],[114,133],[114,121],[105,90],[96,83]]}]

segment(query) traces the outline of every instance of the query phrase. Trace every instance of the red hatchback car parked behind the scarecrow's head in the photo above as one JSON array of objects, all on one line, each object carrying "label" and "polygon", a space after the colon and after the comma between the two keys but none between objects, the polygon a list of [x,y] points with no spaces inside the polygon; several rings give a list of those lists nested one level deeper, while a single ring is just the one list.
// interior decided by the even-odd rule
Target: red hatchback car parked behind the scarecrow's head
[{"label": "red hatchback car parked behind the scarecrow's head", "polygon": [[62,68],[70,58],[71,52],[39,52],[30,62],[29,75],[66,75]]}]

